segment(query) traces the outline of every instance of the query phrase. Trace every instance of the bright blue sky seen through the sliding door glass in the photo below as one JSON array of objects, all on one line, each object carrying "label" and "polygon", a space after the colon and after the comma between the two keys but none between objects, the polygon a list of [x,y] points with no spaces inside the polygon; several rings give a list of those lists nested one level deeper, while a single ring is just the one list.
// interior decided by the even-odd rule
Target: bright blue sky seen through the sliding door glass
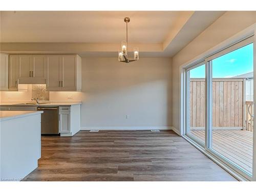
[{"label": "bright blue sky seen through the sliding door glass", "polygon": [[[212,77],[229,78],[253,71],[253,44],[212,60]],[[190,70],[190,78],[204,78],[205,65]]]}]

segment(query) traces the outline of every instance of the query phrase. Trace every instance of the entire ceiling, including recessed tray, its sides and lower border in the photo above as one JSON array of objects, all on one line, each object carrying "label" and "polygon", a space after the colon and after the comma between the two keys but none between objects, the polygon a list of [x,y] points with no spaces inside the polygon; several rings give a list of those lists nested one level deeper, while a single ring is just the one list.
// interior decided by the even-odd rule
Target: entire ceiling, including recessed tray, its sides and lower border
[{"label": "entire ceiling, including recessed tray, its sides and lower border", "polygon": [[[224,11],[1,11],[1,45],[8,47],[1,51],[116,56],[125,39],[123,18],[128,16],[130,45],[139,45],[141,55],[171,57],[222,14]],[[46,44],[49,42],[51,45]],[[38,48],[40,43],[44,50]],[[70,49],[65,44],[65,49],[60,43],[76,44]]]}]

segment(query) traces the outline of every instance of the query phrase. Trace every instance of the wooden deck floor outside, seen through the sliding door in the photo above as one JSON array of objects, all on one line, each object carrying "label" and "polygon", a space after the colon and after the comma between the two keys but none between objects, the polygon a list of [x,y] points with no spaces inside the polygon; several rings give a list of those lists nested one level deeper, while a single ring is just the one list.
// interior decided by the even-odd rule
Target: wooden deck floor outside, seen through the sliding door
[{"label": "wooden deck floor outside, seen through the sliding door", "polygon": [[[204,142],[204,131],[193,130],[193,136]],[[252,173],[252,132],[243,130],[214,130],[212,148],[223,157]]]}]

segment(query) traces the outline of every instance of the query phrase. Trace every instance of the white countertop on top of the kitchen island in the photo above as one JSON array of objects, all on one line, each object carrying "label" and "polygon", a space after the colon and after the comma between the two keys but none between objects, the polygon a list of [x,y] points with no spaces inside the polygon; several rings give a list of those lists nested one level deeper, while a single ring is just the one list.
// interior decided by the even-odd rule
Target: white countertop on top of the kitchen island
[{"label": "white countertop on top of the kitchen island", "polygon": [[43,111],[0,111],[0,121],[6,121],[40,113],[43,113]]}]

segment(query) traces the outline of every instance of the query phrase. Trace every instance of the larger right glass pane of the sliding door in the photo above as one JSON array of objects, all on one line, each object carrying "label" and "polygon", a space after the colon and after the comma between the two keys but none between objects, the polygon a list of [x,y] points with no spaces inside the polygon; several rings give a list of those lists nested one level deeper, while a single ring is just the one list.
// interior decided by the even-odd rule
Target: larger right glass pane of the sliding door
[{"label": "larger right glass pane of the sliding door", "polygon": [[252,174],[253,44],[212,60],[211,149]]}]

